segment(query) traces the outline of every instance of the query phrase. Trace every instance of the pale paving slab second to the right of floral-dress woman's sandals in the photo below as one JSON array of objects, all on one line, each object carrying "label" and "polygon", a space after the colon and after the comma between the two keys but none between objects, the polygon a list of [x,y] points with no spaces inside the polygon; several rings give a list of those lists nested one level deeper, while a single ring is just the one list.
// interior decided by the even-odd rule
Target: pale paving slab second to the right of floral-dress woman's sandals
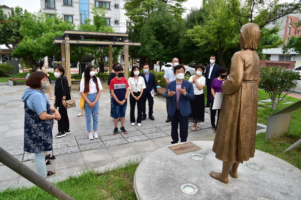
[{"label": "pale paving slab second to the right of floral-dress woman's sandals", "polygon": [[106,148],[82,151],[81,154],[85,164],[113,158]]}]

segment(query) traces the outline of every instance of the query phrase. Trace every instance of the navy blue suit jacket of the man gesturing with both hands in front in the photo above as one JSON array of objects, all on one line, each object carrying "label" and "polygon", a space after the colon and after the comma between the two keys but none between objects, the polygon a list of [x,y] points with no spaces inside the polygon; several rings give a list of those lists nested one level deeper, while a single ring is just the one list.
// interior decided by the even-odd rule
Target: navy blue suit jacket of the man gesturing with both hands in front
[{"label": "navy blue suit jacket of the man gesturing with both hands in front", "polygon": [[[171,99],[170,105],[169,105],[169,114],[170,116],[174,116],[176,112],[176,106],[177,106],[177,94],[174,94],[172,97],[168,97],[168,90],[170,91],[176,91],[176,80],[171,81],[167,84],[166,91],[165,91],[165,98],[166,99]],[[182,89],[186,89],[186,96],[180,93],[180,99],[179,99],[179,106],[180,106],[180,112],[182,116],[187,116],[190,115],[191,109],[190,109],[190,103],[189,100],[194,99],[194,91],[193,91],[193,86],[192,83],[189,81],[186,81],[183,79],[182,82]]]}]

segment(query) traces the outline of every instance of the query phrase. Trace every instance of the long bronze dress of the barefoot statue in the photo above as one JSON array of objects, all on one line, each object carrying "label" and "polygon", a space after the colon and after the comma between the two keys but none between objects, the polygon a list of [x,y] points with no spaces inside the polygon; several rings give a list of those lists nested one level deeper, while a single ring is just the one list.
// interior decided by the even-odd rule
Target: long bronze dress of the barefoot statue
[{"label": "long bronze dress of the barefoot statue", "polygon": [[228,79],[212,150],[222,161],[243,162],[254,157],[260,59],[253,50],[236,52]]}]

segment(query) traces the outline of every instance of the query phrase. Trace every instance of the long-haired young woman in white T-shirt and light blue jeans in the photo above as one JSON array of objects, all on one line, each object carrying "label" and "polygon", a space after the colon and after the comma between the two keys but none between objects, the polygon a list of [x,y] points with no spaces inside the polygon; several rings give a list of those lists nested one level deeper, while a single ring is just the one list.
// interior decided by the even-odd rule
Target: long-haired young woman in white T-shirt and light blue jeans
[{"label": "long-haired young woman in white T-shirt and light blue jeans", "polygon": [[[86,113],[86,125],[89,139],[97,139],[97,126],[98,126],[98,109],[99,109],[99,96],[102,86],[98,77],[95,76],[95,68],[88,65],[85,69],[85,76],[80,81],[80,93],[85,100],[84,110]],[[93,133],[91,127],[91,116],[93,118]]]}]

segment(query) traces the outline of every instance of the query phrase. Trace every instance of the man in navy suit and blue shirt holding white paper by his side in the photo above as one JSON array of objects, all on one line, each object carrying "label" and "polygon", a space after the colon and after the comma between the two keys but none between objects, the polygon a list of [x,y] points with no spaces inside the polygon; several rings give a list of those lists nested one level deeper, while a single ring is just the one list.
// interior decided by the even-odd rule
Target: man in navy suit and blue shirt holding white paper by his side
[{"label": "man in navy suit and blue shirt holding white paper by his side", "polygon": [[[148,101],[148,118],[154,120],[155,117],[153,116],[153,106],[154,106],[154,97],[157,94],[157,84],[155,74],[149,72],[149,66],[147,63],[142,65],[143,73],[141,77],[144,78],[146,88],[143,90],[142,93],[142,120],[146,119],[145,113],[145,105],[146,99]],[[152,96],[151,92],[154,90],[154,95]]]}]

